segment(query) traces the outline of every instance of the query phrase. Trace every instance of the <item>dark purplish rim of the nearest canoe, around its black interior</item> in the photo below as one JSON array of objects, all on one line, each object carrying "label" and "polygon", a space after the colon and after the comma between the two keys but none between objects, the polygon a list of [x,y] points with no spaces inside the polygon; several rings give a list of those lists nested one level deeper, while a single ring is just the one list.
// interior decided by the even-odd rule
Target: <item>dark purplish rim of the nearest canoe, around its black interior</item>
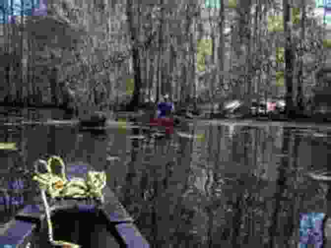
[{"label": "dark purplish rim of the nearest canoe, around its black interior", "polygon": [[[83,165],[75,164],[74,166],[78,166],[80,169],[82,166],[91,167],[86,163],[83,163]],[[81,176],[79,172],[77,173],[77,170],[71,171],[68,175],[71,177]],[[63,200],[52,205],[51,215],[54,216],[61,211],[70,210],[76,210],[83,215],[95,210],[98,213],[97,215],[101,215],[104,219],[106,232],[111,232],[119,248],[149,248],[146,239],[140,234],[133,223],[134,220],[119,202],[114,192],[109,187],[105,187],[103,193],[105,201],[101,206],[85,200]],[[46,214],[43,211],[42,202],[37,198],[35,202],[40,202],[40,204],[35,203],[25,206],[11,221],[0,226],[1,248],[52,247],[51,244],[45,246],[48,236],[47,231],[45,231],[47,229],[47,227],[45,228],[47,226]]]}]

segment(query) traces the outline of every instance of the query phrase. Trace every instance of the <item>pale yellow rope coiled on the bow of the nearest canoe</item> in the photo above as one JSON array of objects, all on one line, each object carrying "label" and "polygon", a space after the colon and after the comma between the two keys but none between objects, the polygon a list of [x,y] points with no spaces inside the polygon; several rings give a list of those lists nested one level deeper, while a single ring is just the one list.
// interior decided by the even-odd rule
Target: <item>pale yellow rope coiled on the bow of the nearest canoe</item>
[{"label": "pale yellow rope coiled on the bow of the nearest canoe", "polygon": [[[52,165],[55,162],[59,163],[61,166],[60,176],[55,175],[52,171]],[[106,186],[106,174],[104,171],[89,171],[86,179],[72,178],[71,180],[67,180],[65,163],[59,156],[52,156],[47,160],[46,170],[46,173],[36,172],[33,180],[38,182],[42,191],[42,198],[48,223],[49,240],[55,246],[79,248],[80,246],[72,243],[53,240],[53,227],[45,192],[47,192],[51,198],[96,198],[103,203],[104,196],[102,194],[102,188]]]}]

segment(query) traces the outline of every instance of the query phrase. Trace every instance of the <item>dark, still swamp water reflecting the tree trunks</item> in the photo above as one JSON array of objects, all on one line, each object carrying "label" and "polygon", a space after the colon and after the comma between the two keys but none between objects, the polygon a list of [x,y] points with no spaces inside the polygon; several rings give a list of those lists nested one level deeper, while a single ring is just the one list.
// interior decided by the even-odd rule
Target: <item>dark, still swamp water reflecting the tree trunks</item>
[{"label": "dark, still swamp water reflecting the tree trunks", "polygon": [[0,150],[1,184],[44,154],[90,162],[106,170],[108,186],[158,248],[294,248],[299,213],[327,212],[328,186],[305,174],[328,168],[328,130],[222,122],[180,129],[138,141],[132,129],[115,125],[94,134],[61,124],[2,124],[0,142],[18,150]]}]

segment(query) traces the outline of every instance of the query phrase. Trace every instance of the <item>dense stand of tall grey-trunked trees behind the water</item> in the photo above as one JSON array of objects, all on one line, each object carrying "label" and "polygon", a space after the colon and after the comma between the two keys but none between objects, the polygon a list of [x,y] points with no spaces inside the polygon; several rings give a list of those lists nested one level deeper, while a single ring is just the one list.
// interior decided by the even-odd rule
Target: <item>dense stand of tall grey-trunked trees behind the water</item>
[{"label": "dense stand of tall grey-trunked trees behind the water", "polygon": [[[304,109],[330,47],[312,0],[35,4],[0,6],[4,102],[109,106],[128,96],[133,107],[165,93],[181,103],[285,93],[290,113]],[[40,53],[50,54],[41,65]]]}]

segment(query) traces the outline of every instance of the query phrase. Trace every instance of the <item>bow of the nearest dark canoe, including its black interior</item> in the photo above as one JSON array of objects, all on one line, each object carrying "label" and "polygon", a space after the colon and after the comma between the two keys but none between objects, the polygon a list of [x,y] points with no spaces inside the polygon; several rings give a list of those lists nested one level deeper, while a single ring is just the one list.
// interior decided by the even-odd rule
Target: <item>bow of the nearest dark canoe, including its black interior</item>
[{"label": "bow of the nearest dark canoe, including its black interior", "polygon": [[[69,177],[82,177],[92,168],[85,163],[69,165]],[[85,200],[63,200],[51,206],[54,239],[81,245],[83,248],[149,248],[132,217],[110,188],[104,188],[101,206]],[[0,227],[0,247],[50,248],[46,217],[40,199],[27,205],[14,219]]]}]

